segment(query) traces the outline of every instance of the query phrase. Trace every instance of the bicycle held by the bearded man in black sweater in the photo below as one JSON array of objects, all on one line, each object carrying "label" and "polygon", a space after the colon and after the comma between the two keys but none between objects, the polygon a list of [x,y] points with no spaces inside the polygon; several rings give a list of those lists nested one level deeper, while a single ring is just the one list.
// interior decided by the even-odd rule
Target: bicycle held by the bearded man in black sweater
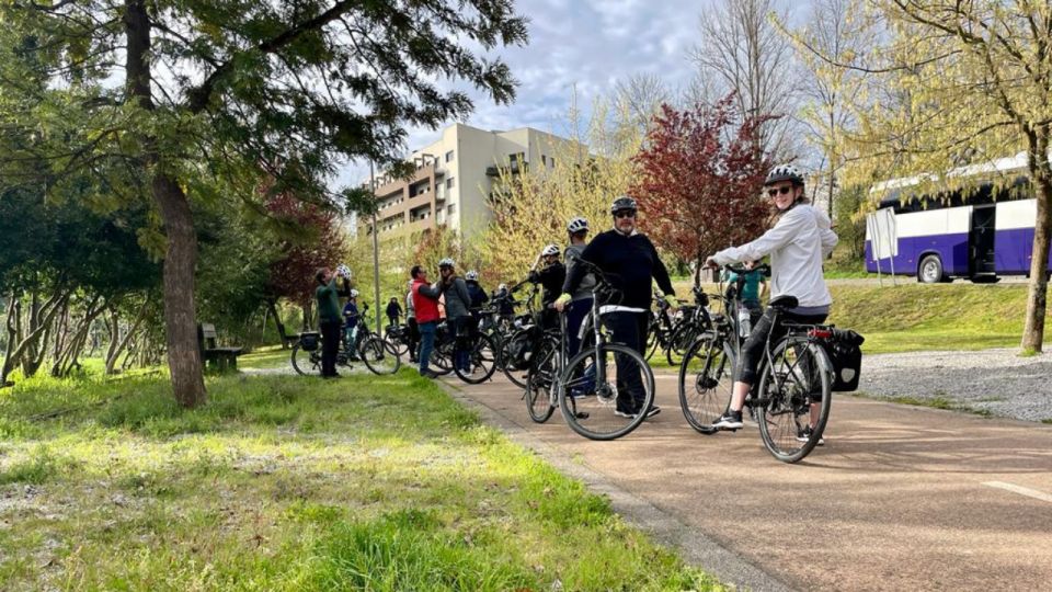
[{"label": "bicycle held by the bearded man in black sweater", "polygon": [[[603,317],[645,310],[610,304],[616,293],[602,270],[582,260],[579,263],[592,267],[596,277],[592,311],[581,329],[581,335],[591,332],[591,339],[567,362],[565,316],[559,316],[560,328],[546,331],[535,350],[527,373],[527,409],[530,418],[542,417],[547,421],[558,405],[567,424],[578,434],[590,440],[616,440],[631,433],[649,417],[654,402],[654,374],[638,352],[607,341]],[[618,365],[624,373],[619,373]],[[634,402],[625,382],[636,373],[643,400],[634,412],[626,412],[625,408],[634,407]]]}]

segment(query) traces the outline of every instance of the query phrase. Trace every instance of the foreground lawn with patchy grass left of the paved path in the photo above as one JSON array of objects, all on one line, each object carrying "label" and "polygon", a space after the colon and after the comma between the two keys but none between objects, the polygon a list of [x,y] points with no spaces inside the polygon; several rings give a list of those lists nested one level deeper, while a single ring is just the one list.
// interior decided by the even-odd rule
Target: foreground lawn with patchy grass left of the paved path
[{"label": "foreground lawn with patchy grass left of the paved path", "polygon": [[411,372],[208,387],[0,391],[0,589],[714,585]]}]

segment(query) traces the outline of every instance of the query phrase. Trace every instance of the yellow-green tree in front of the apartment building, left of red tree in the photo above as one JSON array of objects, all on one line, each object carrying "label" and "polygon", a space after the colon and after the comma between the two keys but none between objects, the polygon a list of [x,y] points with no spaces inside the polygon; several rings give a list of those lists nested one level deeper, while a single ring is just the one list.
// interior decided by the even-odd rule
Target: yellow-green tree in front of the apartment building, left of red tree
[{"label": "yellow-green tree in front of the apartment building, left of red tree", "polygon": [[[606,229],[611,200],[631,185],[631,157],[642,137],[626,111],[597,101],[584,134],[573,136],[571,144],[554,147],[554,168],[533,167],[517,174],[501,168],[490,200],[493,221],[476,246],[496,280],[525,277],[545,244],[565,244],[567,223],[576,216],[588,219],[593,235]],[[641,216],[645,231],[645,213]]]}]

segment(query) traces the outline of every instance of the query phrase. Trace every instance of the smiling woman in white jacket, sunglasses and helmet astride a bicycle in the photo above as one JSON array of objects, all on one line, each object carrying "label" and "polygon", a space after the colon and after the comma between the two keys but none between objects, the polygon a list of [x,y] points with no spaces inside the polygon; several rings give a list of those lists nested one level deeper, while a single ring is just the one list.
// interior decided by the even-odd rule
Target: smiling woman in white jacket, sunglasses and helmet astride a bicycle
[{"label": "smiling woman in white jacket, sunglasses and helmet astride a bicycle", "polygon": [[[771,299],[778,296],[796,296],[798,301],[798,306],[784,312],[779,321],[822,323],[830,315],[830,305],[833,304],[833,297],[822,275],[822,260],[836,246],[836,234],[833,232],[825,213],[812,207],[804,196],[803,175],[792,164],[775,167],[767,174],[764,187],[777,209],[774,227],[752,242],[716,253],[708,258],[706,264],[717,267],[759,260],[769,254]],[[742,407],[750,387],[756,382],[756,367],[763,356],[767,337],[773,330],[778,331],[774,338],[785,333],[780,322],[779,327],[774,327],[773,318],[774,314],[768,308],[745,340],[735,368],[731,402],[713,424],[714,428],[734,430],[742,426]],[[816,406],[812,405],[812,426],[816,411]],[[809,431],[810,428],[798,434],[798,439],[807,441]]]}]

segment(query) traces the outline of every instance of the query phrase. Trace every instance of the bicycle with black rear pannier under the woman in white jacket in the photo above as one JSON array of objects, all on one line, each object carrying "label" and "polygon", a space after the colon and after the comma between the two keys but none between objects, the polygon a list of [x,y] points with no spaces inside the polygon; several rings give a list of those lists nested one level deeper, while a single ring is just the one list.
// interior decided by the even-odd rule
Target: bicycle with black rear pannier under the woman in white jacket
[{"label": "bicycle with black rear pannier under the woman in white jacket", "polygon": [[[739,277],[745,272],[727,269]],[[741,305],[737,294],[740,289],[731,297],[717,296],[724,300],[727,314],[713,316],[713,329],[698,338],[679,367],[679,405],[687,423],[702,434],[719,431],[712,424],[730,401],[734,365],[744,341],[736,314]],[[768,334],[757,368],[759,379],[745,399],[745,408],[759,424],[764,446],[784,463],[803,459],[817,445],[833,398],[834,368],[824,345],[833,328],[780,321],[779,317],[797,304],[793,296],[779,296],[768,304],[765,314],[771,316],[773,326],[780,325],[787,332],[776,341]],[[800,442],[798,437],[812,422],[812,403],[817,406],[814,428]]]}]

